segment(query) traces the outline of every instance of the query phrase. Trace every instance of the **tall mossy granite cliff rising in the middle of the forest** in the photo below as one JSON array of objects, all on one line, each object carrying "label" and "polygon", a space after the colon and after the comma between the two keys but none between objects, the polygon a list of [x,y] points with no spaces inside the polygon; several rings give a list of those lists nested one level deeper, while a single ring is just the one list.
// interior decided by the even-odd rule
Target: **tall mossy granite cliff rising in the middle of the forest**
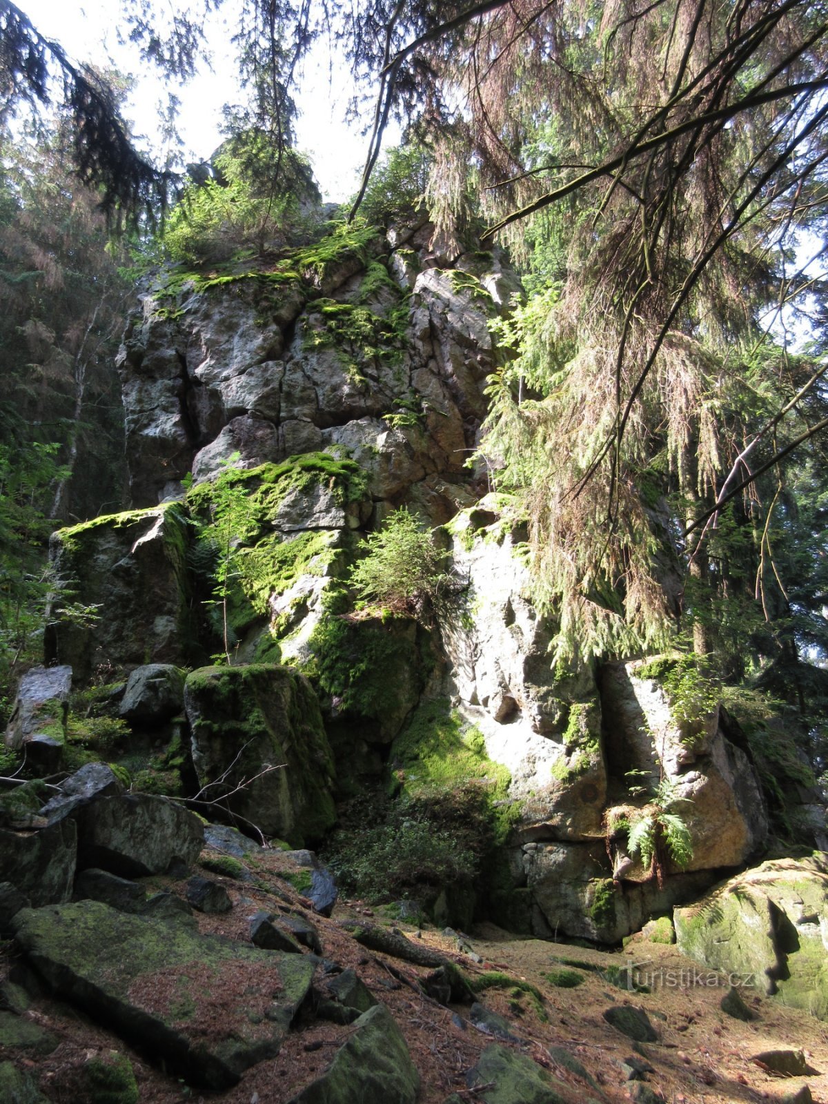
[{"label": "tall mossy granite cliff rising in the middle of the forest", "polygon": [[[262,747],[294,763],[293,783],[259,779],[236,811],[288,838],[304,818],[301,843],[361,787],[431,783],[413,734],[444,702],[459,735],[440,777],[500,779],[508,831],[476,900],[443,894],[437,912],[476,907],[533,934],[613,942],[761,854],[766,786],[737,724],[714,710],[688,735],[640,664],[552,669],[555,625],[532,602],[526,533],[467,465],[501,355],[489,322],[519,282],[498,254],[448,258],[431,238],[426,223],[338,232],[269,269],[168,274],[142,293],[119,355],[136,509],[55,534],[57,571],[102,616],[94,626],[55,616],[47,657],[81,679],[102,665],[208,662],[217,638],[197,533],[232,468],[247,503],[244,585],[225,602],[233,659],[255,666]],[[429,626],[341,619],[359,538],[401,506],[445,527],[452,602]],[[296,700],[311,692],[305,676],[319,694],[310,756],[290,752],[305,739],[293,707],[261,689],[259,668],[273,662],[301,672]],[[231,690],[220,671],[208,681],[230,731]],[[187,713],[203,783],[232,756],[217,750],[202,683]],[[238,722],[242,739],[248,718]],[[625,850],[630,817],[656,824],[666,810],[664,797],[648,804],[647,785],[630,798],[630,772],[684,803],[692,858],[667,856],[661,884]],[[814,793],[798,804],[814,821]]]}]

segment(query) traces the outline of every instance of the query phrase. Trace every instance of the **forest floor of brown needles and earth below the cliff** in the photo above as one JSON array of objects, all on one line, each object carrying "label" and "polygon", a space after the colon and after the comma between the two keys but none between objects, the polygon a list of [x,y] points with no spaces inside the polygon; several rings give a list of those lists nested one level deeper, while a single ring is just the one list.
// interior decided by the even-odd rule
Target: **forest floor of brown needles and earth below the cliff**
[{"label": "forest floor of brown needles and earth below the cliff", "polygon": [[[250,917],[258,909],[273,909],[273,898],[264,890],[222,881],[234,907],[222,916],[199,915],[202,932],[234,940],[248,938]],[[184,882],[155,879],[148,889],[166,888],[183,894]],[[492,1041],[468,1019],[468,1006],[444,1007],[424,996],[417,979],[428,969],[368,951],[342,926],[343,922],[380,923],[375,911],[360,902],[341,902],[330,920],[317,916],[309,902],[295,896],[295,907],[317,927],[327,959],[352,967],[374,996],[384,1001],[407,1041],[421,1075],[421,1104],[442,1104],[450,1094],[463,1101],[481,1101],[479,1092],[466,1084],[466,1072]],[[543,1065],[569,1091],[572,1104],[586,1097],[607,1102],[630,1100],[634,1083],[627,1082],[622,1063],[635,1054],[652,1071],[646,1074],[649,1089],[669,1104],[724,1104],[724,1102],[782,1101],[808,1085],[815,1101],[828,1102],[828,1023],[808,1012],[786,1008],[778,998],[766,997],[761,986],[744,985],[741,994],[756,1019],[743,1022],[723,1012],[720,1000],[728,979],[692,963],[675,946],[644,942],[640,937],[619,952],[604,952],[583,945],[550,943],[510,935],[484,924],[467,936],[482,959],[476,963],[458,952],[450,934],[411,925],[399,925],[413,942],[452,958],[470,976],[500,972],[517,981],[537,987],[542,1000],[513,985],[487,988],[478,999],[506,1017],[520,1041],[505,1045],[528,1054]],[[13,944],[0,945],[0,979],[14,976]],[[569,969],[582,977],[576,988],[560,988],[548,975]],[[613,977],[634,978],[649,985],[649,992],[617,988]],[[211,994],[211,1001],[216,995]],[[220,1004],[220,1001],[219,1001]],[[603,1018],[611,1006],[643,1008],[656,1028],[659,1041],[634,1044]],[[219,1008],[219,1011],[221,1009]],[[36,997],[24,1013],[47,1027],[61,1039],[52,1054],[23,1058],[4,1053],[34,1074],[41,1091],[55,1104],[77,1104],[78,1071],[84,1062],[113,1048],[127,1053],[134,1063],[139,1100],[142,1104],[173,1104],[179,1101],[210,1104],[285,1104],[330,1063],[336,1049],[353,1030],[300,1015],[279,1055],[248,1070],[240,1083],[222,1093],[191,1089],[151,1064],[151,1055],[127,1048],[83,1013],[54,1001],[45,994]],[[585,1068],[596,1085],[560,1064],[563,1048]],[[807,1078],[774,1076],[753,1058],[768,1050],[802,1050],[814,1069]],[[807,1096],[805,1097],[808,1098]]]}]

